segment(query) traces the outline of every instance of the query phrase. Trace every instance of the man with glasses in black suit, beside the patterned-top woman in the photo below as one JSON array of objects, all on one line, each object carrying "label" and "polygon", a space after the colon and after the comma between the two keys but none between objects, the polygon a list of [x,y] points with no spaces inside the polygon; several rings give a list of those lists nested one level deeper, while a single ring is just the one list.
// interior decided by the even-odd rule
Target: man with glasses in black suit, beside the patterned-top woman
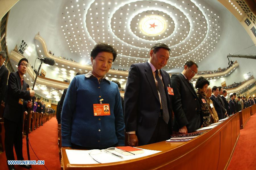
[{"label": "man with glasses in black suit, beside the patterned-top woman", "polygon": [[199,99],[194,87],[189,82],[197,75],[197,64],[187,61],[184,70],[180,74],[171,76],[171,87],[174,111],[174,131],[179,133],[190,133],[200,128],[202,125],[202,114]]}]

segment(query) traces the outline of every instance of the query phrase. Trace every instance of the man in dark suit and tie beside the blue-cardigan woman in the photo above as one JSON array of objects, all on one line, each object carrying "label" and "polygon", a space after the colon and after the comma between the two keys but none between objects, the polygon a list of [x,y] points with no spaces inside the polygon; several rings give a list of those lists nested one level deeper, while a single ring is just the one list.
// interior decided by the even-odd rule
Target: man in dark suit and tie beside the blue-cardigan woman
[{"label": "man in dark suit and tie beside the blue-cardigan woman", "polygon": [[149,54],[147,62],[131,65],[126,82],[124,115],[129,146],[164,141],[172,134],[171,82],[162,70],[170,48],[157,43]]}]

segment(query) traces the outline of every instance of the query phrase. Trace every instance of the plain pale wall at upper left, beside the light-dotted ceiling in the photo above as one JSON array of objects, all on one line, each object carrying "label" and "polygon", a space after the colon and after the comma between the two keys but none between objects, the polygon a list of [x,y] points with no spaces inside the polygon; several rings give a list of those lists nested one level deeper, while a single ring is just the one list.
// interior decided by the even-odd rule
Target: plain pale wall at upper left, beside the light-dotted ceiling
[{"label": "plain pale wall at upper left, beside the light-dotted ceiling", "polygon": [[[10,53],[24,40],[32,48],[28,61],[34,65],[36,57],[41,57],[36,52],[34,41],[35,35],[40,32],[46,41],[48,51],[51,50],[58,56],[75,58],[68,46],[61,45],[61,42],[65,41],[58,24],[61,20],[61,4],[61,1],[18,1],[11,8],[7,23],[8,52]],[[24,56],[28,57],[27,54]],[[37,61],[36,68],[39,64],[40,61]]]}]

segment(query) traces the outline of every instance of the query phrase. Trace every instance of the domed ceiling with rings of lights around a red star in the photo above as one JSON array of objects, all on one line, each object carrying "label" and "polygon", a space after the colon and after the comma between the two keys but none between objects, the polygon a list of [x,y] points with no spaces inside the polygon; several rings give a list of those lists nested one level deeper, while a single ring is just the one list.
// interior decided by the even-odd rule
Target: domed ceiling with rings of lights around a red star
[{"label": "domed ceiling with rings of lights around a red star", "polygon": [[106,42],[118,50],[115,69],[147,61],[152,45],[162,42],[171,49],[164,67],[171,71],[188,59],[203,61],[220,38],[220,17],[203,0],[74,0],[60,11],[59,30],[77,60],[89,63],[94,44]]}]

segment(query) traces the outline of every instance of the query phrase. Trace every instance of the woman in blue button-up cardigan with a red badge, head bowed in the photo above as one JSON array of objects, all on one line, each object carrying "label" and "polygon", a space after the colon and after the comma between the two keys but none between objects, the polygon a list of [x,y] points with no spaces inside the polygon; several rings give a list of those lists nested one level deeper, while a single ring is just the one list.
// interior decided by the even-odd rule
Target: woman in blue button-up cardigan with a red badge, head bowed
[{"label": "woman in blue button-up cardigan with a red badge, head bowed", "polygon": [[[96,44],[91,51],[92,71],[75,76],[71,81],[61,112],[62,146],[103,149],[124,145],[119,89],[117,84],[106,79],[116,56],[113,46]],[[104,105],[108,105],[110,111],[106,115]]]}]

